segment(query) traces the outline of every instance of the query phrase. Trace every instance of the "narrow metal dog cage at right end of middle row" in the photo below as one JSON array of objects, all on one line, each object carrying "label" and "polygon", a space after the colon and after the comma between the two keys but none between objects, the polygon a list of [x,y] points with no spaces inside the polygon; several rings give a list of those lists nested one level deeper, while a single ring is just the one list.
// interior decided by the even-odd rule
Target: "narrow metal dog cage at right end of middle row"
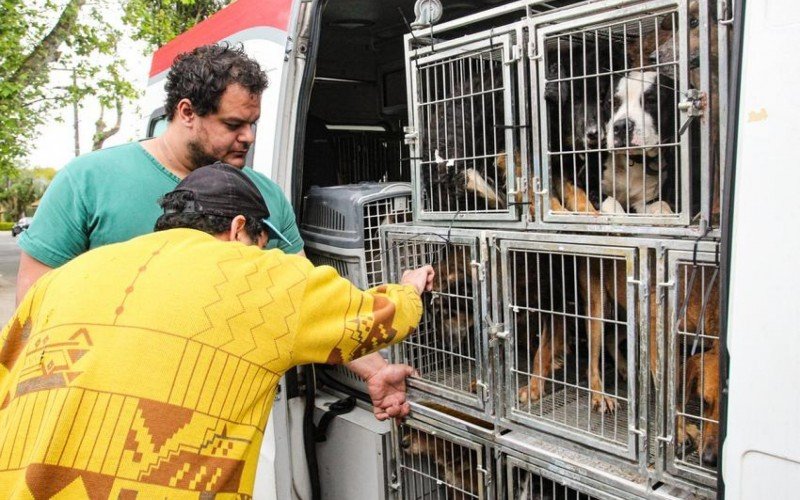
[{"label": "narrow metal dog cage at right end of middle row", "polygon": [[719,287],[717,255],[671,251],[666,331],[666,472],[716,484],[720,429]]}]

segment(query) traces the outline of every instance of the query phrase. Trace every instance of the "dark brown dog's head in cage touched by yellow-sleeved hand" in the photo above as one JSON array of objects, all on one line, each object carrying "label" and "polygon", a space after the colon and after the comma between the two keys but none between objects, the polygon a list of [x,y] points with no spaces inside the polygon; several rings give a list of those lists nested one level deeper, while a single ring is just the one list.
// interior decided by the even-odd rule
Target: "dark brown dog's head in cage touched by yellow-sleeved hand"
[{"label": "dark brown dog's head in cage touched by yellow-sleeved hand", "polygon": [[441,347],[449,351],[460,352],[474,324],[471,262],[466,247],[448,245],[433,266],[436,277],[428,312]]}]

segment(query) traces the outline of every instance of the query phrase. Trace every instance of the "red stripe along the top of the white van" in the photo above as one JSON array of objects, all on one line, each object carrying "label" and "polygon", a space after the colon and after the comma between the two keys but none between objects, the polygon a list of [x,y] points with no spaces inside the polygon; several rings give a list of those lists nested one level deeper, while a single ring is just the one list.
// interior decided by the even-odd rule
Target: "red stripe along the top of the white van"
[{"label": "red stripe along the top of the white van", "polygon": [[268,26],[288,31],[293,0],[237,0],[192,29],[176,36],[153,54],[150,77],[172,65],[184,52],[218,42],[248,28]]}]

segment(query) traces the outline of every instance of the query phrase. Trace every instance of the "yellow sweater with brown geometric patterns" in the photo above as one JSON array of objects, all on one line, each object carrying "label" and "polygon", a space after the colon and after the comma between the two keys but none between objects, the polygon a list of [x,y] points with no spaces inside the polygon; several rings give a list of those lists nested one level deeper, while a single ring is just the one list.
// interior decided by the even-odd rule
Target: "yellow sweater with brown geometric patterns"
[{"label": "yellow sweater with brown geometric patterns", "polygon": [[247,498],[275,389],[417,326],[302,257],[176,229],[42,277],[2,333],[0,497]]}]

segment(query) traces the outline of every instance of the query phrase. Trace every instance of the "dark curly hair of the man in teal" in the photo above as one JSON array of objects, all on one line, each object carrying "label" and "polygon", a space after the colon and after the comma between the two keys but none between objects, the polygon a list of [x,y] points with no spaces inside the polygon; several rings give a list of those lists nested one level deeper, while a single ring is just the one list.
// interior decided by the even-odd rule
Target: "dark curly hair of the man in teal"
[{"label": "dark curly hair of the man in teal", "polygon": [[233,83],[254,95],[260,95],[269,84],[267,74],[245,54],[241,44],[222,42],[184,52],[167,74],[167,119],[172,120],[181,99],[189,99],[200,116],[216,113],[223,92]]}]

